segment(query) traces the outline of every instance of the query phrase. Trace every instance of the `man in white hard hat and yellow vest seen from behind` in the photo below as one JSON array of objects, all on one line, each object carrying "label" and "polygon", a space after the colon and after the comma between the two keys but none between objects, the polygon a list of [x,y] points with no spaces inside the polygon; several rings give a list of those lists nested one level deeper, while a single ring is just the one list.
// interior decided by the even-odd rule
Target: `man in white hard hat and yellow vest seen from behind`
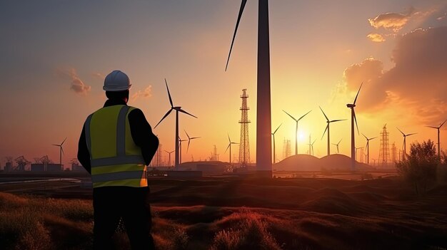
[{"label": "man in white hard hat and yellow vest seen from behind", "polygon": [[146,166],[159,139],[138,108],[130,107],[129,77],[106,76],[104,107],[89,115],[79,137],[78,159],[91,174],[94,249],[111,249],[120,218],[132,249],[154,249]]}]

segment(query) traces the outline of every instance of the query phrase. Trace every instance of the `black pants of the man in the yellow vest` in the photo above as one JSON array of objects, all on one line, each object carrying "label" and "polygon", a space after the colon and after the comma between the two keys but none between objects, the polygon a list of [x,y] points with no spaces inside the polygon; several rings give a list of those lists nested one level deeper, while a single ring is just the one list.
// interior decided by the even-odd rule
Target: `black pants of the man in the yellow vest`
[{"label": "black pants of the man in the yellow vest", "polygon": [[155,249],[149,194],[149,187],[94,188],[94,249],[114,249],[111,239],[120,218],[132,249]]}]

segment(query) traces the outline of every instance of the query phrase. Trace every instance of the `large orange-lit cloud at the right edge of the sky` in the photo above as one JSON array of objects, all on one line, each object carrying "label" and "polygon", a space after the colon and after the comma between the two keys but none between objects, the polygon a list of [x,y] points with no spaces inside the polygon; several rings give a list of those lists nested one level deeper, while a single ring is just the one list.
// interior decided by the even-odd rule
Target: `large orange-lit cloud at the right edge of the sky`
[{"label": "large orange-lit cloud at the right edge of the sky", "polygon": [[393,49],[393,68],[384,71],[381,61],[367,58],[346,68],[346,88],[356,92],[363,81],[360,109],[374,112],[400,105],[420,121],[436,124],[447,118],[446,44],[447,26],[407,33]]}]

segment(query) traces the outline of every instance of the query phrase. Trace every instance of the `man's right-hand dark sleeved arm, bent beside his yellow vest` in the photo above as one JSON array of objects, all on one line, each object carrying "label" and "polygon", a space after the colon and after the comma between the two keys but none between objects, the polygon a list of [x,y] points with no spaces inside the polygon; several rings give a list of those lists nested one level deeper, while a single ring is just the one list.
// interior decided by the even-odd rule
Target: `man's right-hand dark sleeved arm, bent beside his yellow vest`
[{"label": "man's right-hand dark sleeved arm, bent beside his yellow vest", "polygon": [[151,125],[144,117],[144,113],[138,108],[129,113],[129,125],[132,139],[137,146],[141,147],[144,162],[149,165],[157,148],[159,148],[159,138],[154,135]]}]

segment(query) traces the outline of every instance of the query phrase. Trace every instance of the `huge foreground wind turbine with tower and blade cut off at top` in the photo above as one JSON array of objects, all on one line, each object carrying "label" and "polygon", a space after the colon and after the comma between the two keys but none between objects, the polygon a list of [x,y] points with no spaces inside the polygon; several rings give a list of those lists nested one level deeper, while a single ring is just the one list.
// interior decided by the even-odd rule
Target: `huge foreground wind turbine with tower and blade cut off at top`
[{"label": "huge foreground wind turbine with tower and blade cut off at top", "polygon": [[[236,28],[231,41],[226,68],[230,61],[234,38],[247,0],[241,1]],[[268,33],[268,0],[258,2],[258,83],[256,104],[256,170],[258,175],[271,178],[271,101],[270,45]],[[225,70],[226,70],[225,68]]]}]

